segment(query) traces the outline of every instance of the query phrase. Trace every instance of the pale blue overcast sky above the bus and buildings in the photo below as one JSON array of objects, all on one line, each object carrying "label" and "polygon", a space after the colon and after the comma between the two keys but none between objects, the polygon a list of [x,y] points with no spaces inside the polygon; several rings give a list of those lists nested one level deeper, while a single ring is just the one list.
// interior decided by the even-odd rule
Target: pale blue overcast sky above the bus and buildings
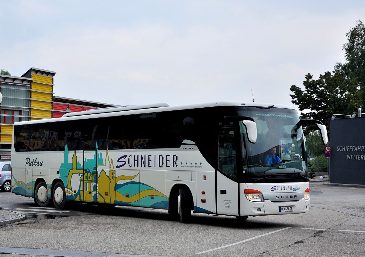
[{"label": "pale blue overcast sky above the bus and buildings", "polygon": [[56,72],[54,95],[170,106],[216,101],[294,106],[344,63],[365,1],[0,0],[0,69]]}]

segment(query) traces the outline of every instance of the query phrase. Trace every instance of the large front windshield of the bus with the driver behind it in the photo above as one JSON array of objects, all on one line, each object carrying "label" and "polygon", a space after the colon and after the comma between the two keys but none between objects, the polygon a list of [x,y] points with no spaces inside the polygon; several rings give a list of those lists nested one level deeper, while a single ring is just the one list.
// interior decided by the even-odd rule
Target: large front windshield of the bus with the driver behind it
[{"label": "large front windshield of the bus with the driver behind it", "polygon": [[244,177],[292,177],[291,173],[308,177],[303,131],[296,110],[238,107],[237,112],[239,116],[252,117],[257,125],[257,141],[250,143],[241,124]]}]

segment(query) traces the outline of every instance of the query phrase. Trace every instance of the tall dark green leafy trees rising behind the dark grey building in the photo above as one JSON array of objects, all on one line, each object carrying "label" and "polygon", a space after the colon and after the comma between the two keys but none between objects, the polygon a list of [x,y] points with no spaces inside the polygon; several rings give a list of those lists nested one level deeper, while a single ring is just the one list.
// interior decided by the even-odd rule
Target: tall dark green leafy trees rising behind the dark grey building
[{"label": "tall dark green leafy trees rising behind the dark grey building", "polygon": [[337,63],[332,73],[320,74],[317,80],[308,73],[304,90],[296,85],[290,88],[292,103],[299,106],[302,118],[321,120],[328,133],[333,114],[351,115],[365,105],[365,25],[357,20],[346,36],[345,64]]}]

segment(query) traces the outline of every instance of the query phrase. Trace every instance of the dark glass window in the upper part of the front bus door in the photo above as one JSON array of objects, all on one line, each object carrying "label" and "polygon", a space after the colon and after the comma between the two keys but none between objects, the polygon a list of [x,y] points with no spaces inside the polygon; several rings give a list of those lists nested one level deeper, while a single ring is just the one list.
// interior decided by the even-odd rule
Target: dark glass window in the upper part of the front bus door
[{"label": "dark glass window in the upper part of the front bus door", "polygon": [[233,130],[218,132],[218,169],[233,179],[237,178],[236,147]]}]

